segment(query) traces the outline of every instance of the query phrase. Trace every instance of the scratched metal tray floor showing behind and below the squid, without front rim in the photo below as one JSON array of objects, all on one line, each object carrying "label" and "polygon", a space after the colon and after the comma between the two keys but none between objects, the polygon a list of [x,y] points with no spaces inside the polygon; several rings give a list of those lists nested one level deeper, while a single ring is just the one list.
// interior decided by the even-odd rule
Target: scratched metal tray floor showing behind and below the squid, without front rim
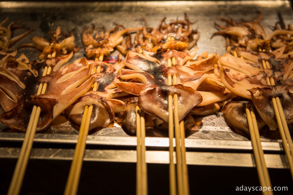
[{"label": "scratched metal tray floor showing behind and below the squid, without front rim", "polygon": [[[224,38],[217,36],[210,39],[216,32],[214,22],[217,21],[217,16],[251,20],[257,16],[257,11],[263,13],[264,26],[274,25],[278,21],[277,12],[282,14],[286,24],[293,23],[289,1],[0,2],[0,20],[4,20],[7,16],[10,22],[22,19],[24,26],[34,29],[33,33],[13,45],[14,49],[23,43],[31,42],[34,36],[49,38],[48,31],[61,26],[64,32],[75,29],[76,44],[81,46],[81,51],[76,53],[72,60],[84,56],[81,32],[86,26],[104,25],[107,30],[113,28],[114,23],[124,25],[126,28],[138,27],[142,26],[142,17],[145,17],[148,26],[156,27],[163,17],[167,17],[166,21],[169,22],[176,18],[183,19],[184,13],[188,14],[191,21],[196,21],[193,27],[200,32],[197,43],[198,54],[209,51],[222,55],[225,52]],[[30,60],[34,60],[40,54],[39,51],[28,48],[19,49],[18,55],[21,53],[25,53]],[[195,120],[201,123],[187,132],[188,138],[247,140],[226,125],[220,112],[206,117],[195,117]],[[11,132],[1,124],[0,130]],[[48,130],[42,133],[78,134],[78,131],[61,115]],[[166,132],[151,131],[147,132],[147,135],[166,137]],[[91,136],[134,135],[128,134],[120,127],[111,127],[93,132]]]}]

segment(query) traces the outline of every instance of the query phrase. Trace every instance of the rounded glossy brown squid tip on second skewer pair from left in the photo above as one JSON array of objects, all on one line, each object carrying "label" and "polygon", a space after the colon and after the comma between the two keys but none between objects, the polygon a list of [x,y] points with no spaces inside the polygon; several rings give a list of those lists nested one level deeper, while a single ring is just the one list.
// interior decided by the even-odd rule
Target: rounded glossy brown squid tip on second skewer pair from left
[{"label": "rounded glossy brown squid tip on second skewer pair from left", "polygon": [[[114,120],[114,113],[110,105],[103,99],[103,97],[98,96],[93,92],[88,92],[84,96],[77,99],[73,104],[71,104],[67,109],[65,109],[65,114],[68,116],[69,120],[75,125],[80,127],[81,120],[83,118],[84,106],[93,106],[93,112],[91,114],[91,120],[89,124],[89,130],[104,128],[110,125]],[[81,113],[71,114],[75,108],[80,107]]]}]

